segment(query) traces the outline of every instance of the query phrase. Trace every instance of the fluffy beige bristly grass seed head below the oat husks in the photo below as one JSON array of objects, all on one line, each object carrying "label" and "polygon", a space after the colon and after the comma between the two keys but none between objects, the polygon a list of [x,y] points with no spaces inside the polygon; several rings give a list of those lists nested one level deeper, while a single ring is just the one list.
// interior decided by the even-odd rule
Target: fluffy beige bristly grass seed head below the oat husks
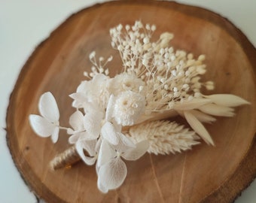
[{"label": "fluffy beige bristly grass seed head below the oat husks", "polygon": [[155,120],[131,126],[126,136],[135,143],[148,140],[148,153],[169,154],[181,153],[190,150],[192,146],[200,144],[199,137],[194,131],[190,131],[178,123],[168,120]]}]

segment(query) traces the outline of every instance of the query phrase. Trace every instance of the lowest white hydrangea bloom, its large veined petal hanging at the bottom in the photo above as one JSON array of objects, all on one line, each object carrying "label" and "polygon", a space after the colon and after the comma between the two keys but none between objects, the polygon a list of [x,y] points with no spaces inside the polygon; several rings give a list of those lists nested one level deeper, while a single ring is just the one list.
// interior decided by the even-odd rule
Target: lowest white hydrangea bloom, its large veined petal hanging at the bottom
[{"label": "lowest white hydrangea bloom, its large veined petal hanging at the bottom", "polygon": [[120,134],[117,145],[111,145],[108,141],[102,140],[99,148],[97,162],[98,188],[102,192],[119,187],[127,174],[126,164],[123,159],[135,161],[143,156],[148,150],[148,141],[140,141],[133,144],[129,138]]}]

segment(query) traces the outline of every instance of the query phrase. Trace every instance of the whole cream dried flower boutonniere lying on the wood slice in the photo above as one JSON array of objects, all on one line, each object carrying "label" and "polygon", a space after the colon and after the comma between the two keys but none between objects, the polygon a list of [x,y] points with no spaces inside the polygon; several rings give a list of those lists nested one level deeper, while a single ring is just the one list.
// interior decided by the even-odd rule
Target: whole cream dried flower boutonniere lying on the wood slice
[{"label": "whole cream dried flower boutonniere lying on the wood slice", "polygon": [[[203,95],[201,88],[214,89],[212,81],[201,81],[206,73],[205,56],[169,46],[173,35],[164,32],[151,41],[156,26],[136,21],[133,26],[119,25],[110,29],[111,46],[118,50],[123,70],[109,77],[111,62],[90,53],[91,72],[75,93],[69,118],[70,128],[59,126],[59,109],[50,92],[41,95],[41,114],[29,116],[35,133],[50,137],[56,143],[59,129],[70,135],[69,150],[63,159],[70,163],[82,159],[87,165],[96,163],[97,186],[100,191],[119,187],[126,177],[123,159],[136,160],[146,152],[169,154],[189,150],[200,144],[200,138],[214,145],[202,123],[217,117],[233,117],[234,107],[249,104],[236,95]],[[191,129],[166,120],[180,115]],[[70,154],[78,153],[78,157]]]}]

